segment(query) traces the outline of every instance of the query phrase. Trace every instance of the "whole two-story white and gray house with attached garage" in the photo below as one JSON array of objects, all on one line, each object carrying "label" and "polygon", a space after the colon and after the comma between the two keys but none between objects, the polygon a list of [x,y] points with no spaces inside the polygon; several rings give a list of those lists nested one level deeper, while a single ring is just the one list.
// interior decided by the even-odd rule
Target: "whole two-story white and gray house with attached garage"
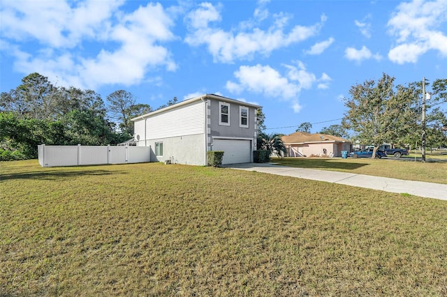
[{"label": "whole two-story white and gray house with attached garage", "polygon": [[260,108],[205,94],[132,119],[135,141],[154,162],[207,165],[207,151],[224,151],[222,164],[253,162]]}]

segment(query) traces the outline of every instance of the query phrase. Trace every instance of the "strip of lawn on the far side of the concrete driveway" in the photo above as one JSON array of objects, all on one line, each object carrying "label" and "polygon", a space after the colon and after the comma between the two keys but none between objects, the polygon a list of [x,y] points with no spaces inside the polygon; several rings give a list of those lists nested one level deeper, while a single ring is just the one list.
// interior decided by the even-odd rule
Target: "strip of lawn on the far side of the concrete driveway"
[{"label": "strip of lawn on the far side of the concrete driveway", "polygon": [[279,165],[384,176],[408,181],[447,183],[447,162],[411,162],[369,158],[272,158]]}]

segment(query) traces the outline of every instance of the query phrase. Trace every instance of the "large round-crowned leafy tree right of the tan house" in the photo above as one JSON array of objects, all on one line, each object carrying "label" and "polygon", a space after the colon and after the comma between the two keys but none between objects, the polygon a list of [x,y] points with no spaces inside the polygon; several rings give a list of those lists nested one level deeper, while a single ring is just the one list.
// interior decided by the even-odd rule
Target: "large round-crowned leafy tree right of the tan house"
[{"label": "large round-crowned leafy tree right of the tan house", "polygon": [[396,142],[414,128],[416,90],[397,86],[395,91],[394,80],[383,73],[378,81],[351,86],[351,98],[344,98],[348,111],[342,125],[353,130],[358,141],[374,145],[372,158],[381,144]]}]

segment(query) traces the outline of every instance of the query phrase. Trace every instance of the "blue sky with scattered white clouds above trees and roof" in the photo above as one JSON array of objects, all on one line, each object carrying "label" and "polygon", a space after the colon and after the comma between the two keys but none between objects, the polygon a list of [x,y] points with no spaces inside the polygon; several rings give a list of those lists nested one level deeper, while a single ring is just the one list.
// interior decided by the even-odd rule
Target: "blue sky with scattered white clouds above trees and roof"
[{"label": "blue sky with scattered white clouds above trees and roof", "polygon": [[446,0],[0,1],[2,92],[40,73],[153,109],[214,93],[287,135],[339,124],[351,86],[383,73],[447,79]]}]

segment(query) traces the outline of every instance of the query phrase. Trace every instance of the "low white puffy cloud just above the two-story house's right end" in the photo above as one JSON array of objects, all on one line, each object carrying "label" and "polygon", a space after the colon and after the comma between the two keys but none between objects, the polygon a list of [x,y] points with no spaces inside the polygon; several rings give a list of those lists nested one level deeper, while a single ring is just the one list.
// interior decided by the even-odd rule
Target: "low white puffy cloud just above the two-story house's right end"
[{"label": "low white puffy cloud just above the two-story house's right end", "polygon": [[[228,81],[226,89],[230,93],[249,91],[262,94],[273,100],[285,100],[291,102],[294,112],[300,112],[302,106],[298,101],[302,89],[311,89],[317,81],[313,73],[309,73],[300,61],[296,65],[284,65],[286,72],[279,73],[270,66],[240,66],[234,75],[237,82]],[[322,82],[328,82],[330,77],[323,73]]]}]

